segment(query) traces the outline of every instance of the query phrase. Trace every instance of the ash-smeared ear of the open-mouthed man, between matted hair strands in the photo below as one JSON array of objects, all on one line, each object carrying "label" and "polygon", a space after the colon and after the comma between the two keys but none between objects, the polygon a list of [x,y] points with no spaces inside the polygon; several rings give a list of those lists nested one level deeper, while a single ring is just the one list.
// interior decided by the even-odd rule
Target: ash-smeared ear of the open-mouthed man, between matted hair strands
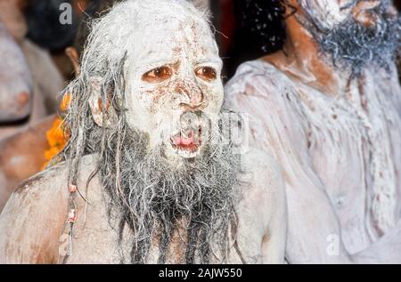
[{"label": "ash-smeared ear of the open-mouthed man, between matted hair strands", "polygon": [[91,79],[91,96],[89,98],[89,107],[92,111],[92,117],[96,125],[101,127],[111,127],[117,123],[117,113],[111,105],[109,98],[105,103],[102,101],[102,84],[100,79]]}]

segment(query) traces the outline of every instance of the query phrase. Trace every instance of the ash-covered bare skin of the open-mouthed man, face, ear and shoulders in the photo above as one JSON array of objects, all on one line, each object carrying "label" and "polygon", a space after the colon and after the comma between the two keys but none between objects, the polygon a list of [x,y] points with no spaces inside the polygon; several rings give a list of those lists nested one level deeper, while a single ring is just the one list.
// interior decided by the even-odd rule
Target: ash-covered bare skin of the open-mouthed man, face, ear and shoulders
[{"label": "ash-covered bare skin of the open-mouthed man, face, ear and shoulders", "polygon": [[[135,3],[139,1],[127,3],[130,2],[132,4],[127,4],[128,7],[133,7],[133,13],[137,12],[134,8],[137,9]],[[176,166],[184,157],[192,155],[173,149],[171,137],[179,128],[174,121],[187,112],[202,111],[212,117],[220,111],[224,99],[219,77],[221,60],[211,31],[199,16],[194,17],[184,8],[177,15],[176,11],[169,10],[168,4],[162,12],[155,6],[148,5],[148,13],[143,15],[147,20],[143,20],[146,27],[136,27],[131,32],[128,29],[135,25],[129,24],[125,27],[127,29],[123,29],[132,36],[124,37],[123,42],[128,44],[120,46],[127,47],[124,108],[127,109],[127,125],[146,133],[150,137],[150,148],[165,144],[166,157],[172,166]],[[177,5],[176,8],[182,7]],[[131,13],[127,15],[132,16]],[[114,20],[120,19],[119,14],[114,16]],[[168,21],[158,25],[158,20],[164,16],[168,16]],[[121,26],[116,23],[110,28],[120,29]],[[139,42],[137,38],[145,41]],[[135,44],[129,44],[133,39]],[[118,40],[113,42],[119,43]],[[116,50],[121,51],[121,48]],[[204,68],[208,71],[199,71]],[[81,72],[85,71],[81,68]],[[94,122],[99,126],[109,126],[113,122],[112,108],[104,105],[108,115],[102,116],[105,111],[99,101],[98,78],[91,77],[93,96],[88,102]],[[201,147],[194,152],[196,156],[201,154]],[[81,159],[79,188],[85,186],[97,162],[94,155]],[[68,236],[63,230],[69,198],[66,189],[68,169],[65,163],[56,165],[22,183],[13,193],[0,216],[0,262],[60,262],[59,256],[66,254]],[[268,155],[250,148],[241,156],[240,174],[243,197],[235,209],[239,217],[238,239],[243,257],[246,262],[282,262],[286,212],[280,170]],[[77,198],[80,215],[74,227],[74,251],[64,262],[118,263],[117,233],[110,227],[115,219],[108,218],[98,175],[88,185],[82,192],[91,203],[86,209],[85,201]],[[85,209],[86,215],[81,216]],[[172,262],[181,261],[180,244],[180,234],[176,234],[171,244]],[[158,242],[154,242],[150,255],[153,259],[149,262],[155,262],[157,247]],[[229,262],[241,262],[235,252],[230,254]]]}]

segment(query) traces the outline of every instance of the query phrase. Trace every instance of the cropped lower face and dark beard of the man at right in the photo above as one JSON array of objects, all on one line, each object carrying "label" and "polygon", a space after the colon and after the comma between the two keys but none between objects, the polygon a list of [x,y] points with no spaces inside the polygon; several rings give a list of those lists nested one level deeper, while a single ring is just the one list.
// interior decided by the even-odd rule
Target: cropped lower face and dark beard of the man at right
[{"label": "cropped lower face and dark beard of the man at right", "polygon": [[389,68],[401,46],[401,18],[389,0],[299,0],[305,19],[299,20],[321,50],[339,68],[354,76],[373,63]]}]

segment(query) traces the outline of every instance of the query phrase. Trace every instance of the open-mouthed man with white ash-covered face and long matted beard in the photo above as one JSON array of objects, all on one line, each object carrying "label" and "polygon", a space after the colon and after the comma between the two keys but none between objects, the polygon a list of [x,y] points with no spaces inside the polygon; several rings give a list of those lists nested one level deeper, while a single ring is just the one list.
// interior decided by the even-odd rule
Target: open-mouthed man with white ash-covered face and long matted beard
[{"label": "open-mouthed man with white ash-covered face and long matted beard", "polygon": [[65,162],[5,205],[0,262],[282,262],[280,172],[226,141],[221,68],[185,1],[126,1],[95,21],[67,88]]}]

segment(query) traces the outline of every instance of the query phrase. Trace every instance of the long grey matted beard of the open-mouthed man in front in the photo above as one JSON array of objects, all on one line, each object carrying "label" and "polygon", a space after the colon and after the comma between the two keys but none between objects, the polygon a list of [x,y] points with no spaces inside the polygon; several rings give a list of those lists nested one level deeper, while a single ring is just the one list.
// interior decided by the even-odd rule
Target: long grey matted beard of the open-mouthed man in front
[{"label": "long grey matted beard of the open-mouthed man in front", "polygon": [[209,263],[217,253],[219,261],[226,262],[233,242],[241,257],[234,210],[240,156],[230,144],[207,145],[202,157],[183,159],[177,169],[163,156],[163,146],[147,149],[143,133],[125,123],[110,131],[100,175],[110,197],[110,219],[119,222],[119,246],[126,227],[130,230],[131,262],[147,262],[155,236],[160,240],[158,262],[166,262],[173,232],[183,220],[185,263]]}]

